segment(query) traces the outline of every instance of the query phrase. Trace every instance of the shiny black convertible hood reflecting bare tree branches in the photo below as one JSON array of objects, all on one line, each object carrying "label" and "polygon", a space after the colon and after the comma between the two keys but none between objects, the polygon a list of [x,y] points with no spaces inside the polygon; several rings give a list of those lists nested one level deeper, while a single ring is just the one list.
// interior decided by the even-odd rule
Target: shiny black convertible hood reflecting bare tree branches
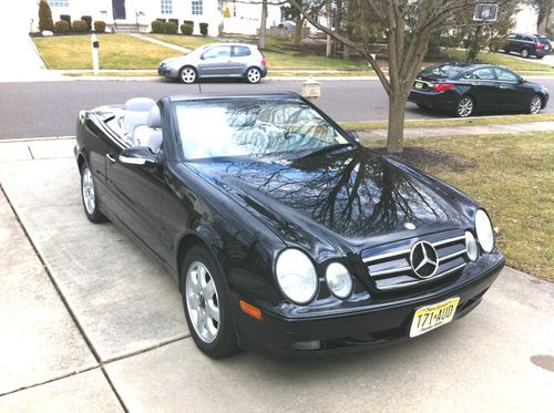
[{"label": "shiny black convertible hood reflecting bare tree branches", "polygon": [[464,208],[471,200],[463,194],[362,147],[293,161],[189,165],[294,245],[367,247],[369,239],[391,233],[469,225]]}]

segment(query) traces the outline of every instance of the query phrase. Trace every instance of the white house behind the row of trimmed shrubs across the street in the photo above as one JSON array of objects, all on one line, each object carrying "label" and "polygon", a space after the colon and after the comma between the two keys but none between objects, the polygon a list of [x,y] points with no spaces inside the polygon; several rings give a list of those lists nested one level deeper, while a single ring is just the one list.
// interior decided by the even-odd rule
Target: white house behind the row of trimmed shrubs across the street
[{"label": "white house behind the row of trimmed shrubs across the street", "polygon": [[[24,0],[25,10],[31,12],[32,30],[38,30],[39,0]],[[48,0],[52,19],[60,20],[60,14],[79,20],[81,16],[91,16],[94,21],[102,20],[109,30],[140,30],[148,32],[150,23],[156,19],[178,19],[194,21],[194,34],[199,34],[201,22],[208,23],[208,34],[217,35],[219,25],[224,31],[238,34],[255,34],[260,24],[261,4],[236,0]],[[224,11],[228,17],[224,18]],[[281,7],[269,4],[267,27],[284,20]]]}]

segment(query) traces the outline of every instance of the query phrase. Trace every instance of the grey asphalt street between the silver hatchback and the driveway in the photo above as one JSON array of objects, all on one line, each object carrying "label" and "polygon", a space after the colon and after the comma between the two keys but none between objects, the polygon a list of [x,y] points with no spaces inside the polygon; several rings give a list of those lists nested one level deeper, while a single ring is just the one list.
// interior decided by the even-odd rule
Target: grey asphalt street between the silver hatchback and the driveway
[{"label": "grey asphalt street between the silver hatchback and the driveway", "polygon": [[[554,90],[554,79],[538,81]],[[257,85],[240,82],[211,82],[184,85],[167,81],[74,81],[0,83],[0,140],[74,135],[80,110],[105,104],[121,104],[127,99],[160,99],[168,94],[213,92],[300,93],[300,81],[264,81]],[[386,120],[388,99],[379,81],[321,82],[321,97],[316,102],[337,121]],[[554,111],[550,104],[545,112]],[[407,104],[407,118],[450,116]]]}]

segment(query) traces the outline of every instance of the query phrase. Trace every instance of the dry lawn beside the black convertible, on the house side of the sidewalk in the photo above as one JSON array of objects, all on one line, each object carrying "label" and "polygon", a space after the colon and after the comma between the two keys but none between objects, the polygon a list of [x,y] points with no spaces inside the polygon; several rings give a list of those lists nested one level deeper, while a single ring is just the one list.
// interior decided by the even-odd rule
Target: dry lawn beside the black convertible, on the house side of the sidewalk
[{"label": "dry lawn beside the black convertible, on the house side of the sidewalk", "polygon": [[400,158],[479,199],[507,265],[554,281],[554,132],[410,140]]}]

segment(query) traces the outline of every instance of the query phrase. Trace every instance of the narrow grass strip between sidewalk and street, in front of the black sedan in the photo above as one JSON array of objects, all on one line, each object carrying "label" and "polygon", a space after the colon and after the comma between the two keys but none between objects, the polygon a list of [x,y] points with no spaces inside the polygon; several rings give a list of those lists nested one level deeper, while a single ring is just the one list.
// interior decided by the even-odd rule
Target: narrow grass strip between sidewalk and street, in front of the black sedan
[{"label": "narrow grass strip between sidewalk and street, in front of the black sedan", "polygon": [[[496,115],[480,116],[471,118],[433,118],[433,120],[409,120],[404,122],[406,127],[450,127],[450,126],[484,126],[484,125],[510,125],[527,122],[552,122],[554,113],[540,113],[537,115]],[[387,121],[362,121],[362,122],[339,122],[346,130],[371,131],[384,130],[388,127]]]}]

